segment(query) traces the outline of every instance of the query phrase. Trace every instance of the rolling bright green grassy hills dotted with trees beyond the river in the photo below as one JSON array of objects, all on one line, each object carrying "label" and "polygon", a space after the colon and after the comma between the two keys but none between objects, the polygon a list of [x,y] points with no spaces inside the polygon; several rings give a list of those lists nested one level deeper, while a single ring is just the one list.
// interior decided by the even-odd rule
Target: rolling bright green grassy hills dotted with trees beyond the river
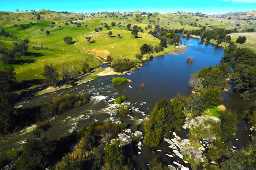
[{"label": "rolling bright green grassy hills dotted with trees beyond the river", "polygon": [[[41,19],[37,20],[40,15]],[[51,22],[55,25],[53,31],[49,28]],[[69,21],[81,23],[76,27]],[[152,13],[148,17],[148,13],[139,11],[119,13],[71,13],[71,12],[55,12],[49,10],[27,11],[27,12],[0,12],[0,27],[9,31],[16,38],[8,38],[0,36],[0,47],[12,48],[13,42],[21,42],[28,39],[30,41],[28,52],[20,59],[15,60],[13,64],[4,64],[0,62],[0,67],[13,66],[18,80],[23,79],[40,79],[43,78],[42,73],[45,64],[52,63],[58,70],[60,67],[67,66],[71,68],[72,64],[76,64],[81,71],[82,63],[86,59],[91,67],[100,65],[108,55],[114,61],[119,57],[125,57],[132,61],[139,61],[136,53],[140,53],[140,47],[144,44],[158,45],[160,40],[148,34],[153,30],[155,25],[160,25],[166,29],[186,30],[200,29],[200,26],[213,26],[227,29],[238,28],[238,31],[244,31],[248,28],[256,28],[255,22],[248,23],[247,20],[237,20],[241,23],[241,28],[234,26],[233,19],[216,18],[203,14],[193,13]],[[31,24],[32,22],[32,24]],[[68,25],[65,23],[68,22]],[[107,30],[101,23],[107,23],[111,30]],[[121,25],[111,26],[111,22]],[[191,24],[196,22],[196,26]],[[133,38],[126,25],[141,26],[144,33],[138,33],[138,38]],[[14,26],[16,24],[17,26]],[[28,28],[21,29],[20,24],[28,25]],[[87,25],[87,28],[85,27]],[[145,27],[152,25],[153,27],[146,30]],[[60,27],[59,27],[60,26]],[[102,31],[95,32],[94,28],[103,27]],[[50,35],[45,35],[40,28],[50,31]],[[112,31],[112,37],[108,36],[108,31]],[[117,33],[121,33],[118,38]],[[85,36],[91,35],[93,43],[88,44]],[[73,44],[66,44],[63,38],[69,36],[73,38]],[[248,39],[249,40],[249,39]],[[44,48],[39,47],[39,43],[44,42]],[[35,49],[33,48],[35,47]],[[174,47],[170,46],[164,50],[164,53],[173,52]],[[159,54],[164,54],[159,53]],[[158,55],[156,53],[154,56]],[[99,58],[101,57],[101,58]]]}]

